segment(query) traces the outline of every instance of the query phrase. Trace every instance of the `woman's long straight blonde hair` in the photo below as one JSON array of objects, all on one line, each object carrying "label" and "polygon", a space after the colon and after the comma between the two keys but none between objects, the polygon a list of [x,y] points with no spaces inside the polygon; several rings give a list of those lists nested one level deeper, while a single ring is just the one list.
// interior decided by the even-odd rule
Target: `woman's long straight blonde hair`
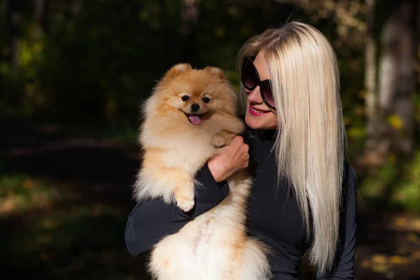
[{"label": "woman's long straight blonde hair", "polygon": [[[267,29],[238,55],[263,51],[272,80],[278,132],[274,150],[278,176],[288,179],[302,213],[318,273],[332,268],[338,244],[345,129],[339,71],[332,46],[320,31],[301,22]],[[241,88],[242,99],[246,99]]]}]

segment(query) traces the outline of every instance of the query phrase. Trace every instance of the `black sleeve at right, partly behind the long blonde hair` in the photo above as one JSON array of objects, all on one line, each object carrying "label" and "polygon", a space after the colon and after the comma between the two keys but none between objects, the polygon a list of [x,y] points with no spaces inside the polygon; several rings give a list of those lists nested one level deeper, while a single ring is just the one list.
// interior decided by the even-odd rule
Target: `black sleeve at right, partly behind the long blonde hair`
[{"label": "black sleeve at right, partly behind the long blonde hair", "polygon": [[353,279],[356,243],[357,179],[353,167],[346,164],[343,183],[343,207],[340,214],[339,246],[332,272],[317,279]]}]

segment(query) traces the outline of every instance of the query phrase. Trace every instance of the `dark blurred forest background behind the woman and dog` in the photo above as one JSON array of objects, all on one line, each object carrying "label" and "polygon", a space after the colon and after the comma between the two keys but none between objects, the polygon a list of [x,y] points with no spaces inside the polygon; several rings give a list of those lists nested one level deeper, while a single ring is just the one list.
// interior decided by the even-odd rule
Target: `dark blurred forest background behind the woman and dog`
[{"label": "dark blurred forest background behind the woman and dog", "polygon": [[0,278],[146,279],[124,243],[141,100],[178,62],[237,89],[240,46],[300,20],[339,59],[356,279],[420,279],[419,15],[414,0],[1,0]]}]

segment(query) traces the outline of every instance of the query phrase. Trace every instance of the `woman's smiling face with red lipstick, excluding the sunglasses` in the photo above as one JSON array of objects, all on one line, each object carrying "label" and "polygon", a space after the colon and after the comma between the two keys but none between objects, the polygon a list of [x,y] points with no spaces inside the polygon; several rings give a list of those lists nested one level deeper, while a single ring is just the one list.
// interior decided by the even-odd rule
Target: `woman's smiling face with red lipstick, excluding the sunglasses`
[{"label": "woman's smiling face with red lipstick, excluding the sunglasses", "polygon": [[[258,52],[258,55],[254,60],[254,65],[258,71],[260,80],[267,80],[270,78],[267,64],[264,60],[264,52]],[[245,92],[247,100],[245,114],[246,125],[254,130],[275,130],[277,127],[277,115],[270,111],[262,100],[260,87],[255,87],[252,91],[245,89]]]}]

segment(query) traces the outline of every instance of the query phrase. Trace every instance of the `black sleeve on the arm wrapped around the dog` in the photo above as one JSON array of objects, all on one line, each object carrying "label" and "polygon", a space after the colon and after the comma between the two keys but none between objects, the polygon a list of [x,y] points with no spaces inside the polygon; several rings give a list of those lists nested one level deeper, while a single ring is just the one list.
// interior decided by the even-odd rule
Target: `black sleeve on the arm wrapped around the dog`
[{"label": "black sleeve on the arm wrapped around the dog", "polygon": [[195,206],[188,213],[159,199],[137,203],[125,228],[125,244],[131,255],[146,253],[162,237],[177,232],[229,195],[228,183],[216,183],[207,164],[197,172],[196,179],[200,186],[195,186]]}]

